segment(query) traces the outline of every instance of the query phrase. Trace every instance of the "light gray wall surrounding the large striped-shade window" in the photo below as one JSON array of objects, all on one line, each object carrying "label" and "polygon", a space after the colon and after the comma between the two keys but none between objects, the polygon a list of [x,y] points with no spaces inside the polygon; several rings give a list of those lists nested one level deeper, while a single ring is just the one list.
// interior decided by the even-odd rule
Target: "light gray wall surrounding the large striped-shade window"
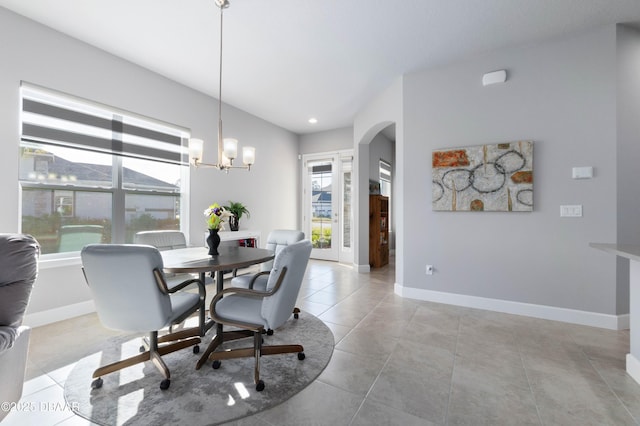
[{"label": "light gray wall surrounding the large striped-shade window", "polygon": [[[4,159],[0,178],[5,182],[2,232],[19,231],[21,80],[190,128],[194,137],[207,143],[215,140],[217,101],[213,98],[4,8],[0,8],[0,39],[0,157]],[[251,219],[243,217],[241,229],[260,230],[265,236],[274,228],[299,226],[297,135],[237,109],[224,108],[225,134],[237,137],[241,146],[254,145],[256,164],[250,173],[191,171],[191,241],[202,243],[202,212],[212,202],[243,202],[252,214]],[[205,160],[213,160],[215,148],[209,145],[207,149]],[[89,300],[79,264],[70,263],[41,269],[28,314]]]}]

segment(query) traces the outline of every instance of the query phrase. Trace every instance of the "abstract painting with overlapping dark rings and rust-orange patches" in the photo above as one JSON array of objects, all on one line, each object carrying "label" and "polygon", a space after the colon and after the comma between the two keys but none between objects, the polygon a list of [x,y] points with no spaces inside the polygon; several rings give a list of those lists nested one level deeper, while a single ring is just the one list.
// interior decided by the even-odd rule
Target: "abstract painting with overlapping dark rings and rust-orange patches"
[{"label": "abstract painting with overlapping dark rings and rust-orange patches", "polygon": [[433,151],[434,211],[533,211],[533,142]]}]

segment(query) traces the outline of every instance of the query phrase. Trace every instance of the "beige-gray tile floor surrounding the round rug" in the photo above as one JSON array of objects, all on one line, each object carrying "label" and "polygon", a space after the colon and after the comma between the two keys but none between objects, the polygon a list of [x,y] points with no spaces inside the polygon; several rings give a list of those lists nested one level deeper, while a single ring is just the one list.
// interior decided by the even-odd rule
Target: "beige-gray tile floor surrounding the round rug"
[{"label": "beige-gray tile floor surrounding the round rug", "polygon": [[[402,299],[393,265],[370,274],[311,261],[298,306],[334,333],[320,377],[248,425],[627,425],[640,385],[628,331]],[[2,426],[87,425],[65,409],[74,362],[115,333],[95,315],[33,330],[22,403]],[[184,419],[200,424],[202,419]]]}]

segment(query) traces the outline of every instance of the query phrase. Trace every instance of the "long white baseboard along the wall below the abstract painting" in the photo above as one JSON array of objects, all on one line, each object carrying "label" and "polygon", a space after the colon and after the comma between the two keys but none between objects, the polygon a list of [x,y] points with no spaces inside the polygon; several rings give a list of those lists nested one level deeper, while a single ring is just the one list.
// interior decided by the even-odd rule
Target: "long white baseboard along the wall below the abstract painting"
[{"label": "long white baseboard along the wall below the abstract painting", "polygon": [[[410,299],[445,303],[448,305],[464,306],[467,308],[485,309],[487,311],[562,321],[571,324],[606,328],[609,330],[623,330],[629,328],[628,314],[607,315],[597,312],[558,308],[555,306],[534,305],[531,303],[489,299],[486,297],[404,287],[397,283],[394,285],[394,292],[399,296]],[[640,372],[640,368],[638,369],[638,372]]]}]

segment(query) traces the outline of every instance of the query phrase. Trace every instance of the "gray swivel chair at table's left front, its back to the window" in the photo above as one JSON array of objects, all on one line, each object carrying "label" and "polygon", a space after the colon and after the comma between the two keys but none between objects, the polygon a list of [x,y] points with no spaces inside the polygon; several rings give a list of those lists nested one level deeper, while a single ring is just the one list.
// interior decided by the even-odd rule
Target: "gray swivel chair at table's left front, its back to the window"
[{"label": "gray swivel chair at table's left front, its back to the window", "polygon": [[[105,374],[151,359],[165,377],[160,388],[167,389],[171,383],[170,373],[160,354],[194,345],[193,352],[198,353],[197,345],[205,333],[204,284],[198,279],[188,279],[169,289],[162,271],[162,256],[152,246],[90,244],[80,255],[102,324],[113,330],[149,333],[148,350],[98,368],[93,373],[96,380],[92,387],[100,388],[101,376]],[[179,291],[193,283],[198,285],[197,294]],[[198,327],[158,337],[158,330],[179,324],[198,310]],[[159,346],[160,343],[166,344]]]}]

